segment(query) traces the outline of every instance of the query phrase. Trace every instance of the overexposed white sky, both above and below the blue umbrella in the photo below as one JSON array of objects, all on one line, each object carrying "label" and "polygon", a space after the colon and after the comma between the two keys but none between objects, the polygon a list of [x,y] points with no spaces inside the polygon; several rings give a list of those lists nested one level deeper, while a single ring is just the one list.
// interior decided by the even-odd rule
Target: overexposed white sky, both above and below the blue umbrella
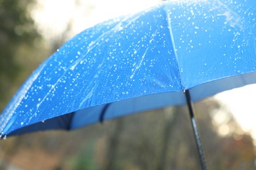
[{"label": "overexposed white sky, both above and below the blue umbrella", "polygon": [[[67,23],[71,22],[71,38],[99,22],[135,13],[159,2],[160,0],[38,0],[38,5],[32,10],[32,16],[39,31],[49,40],[60,36]],[[256,86],[228,90],[214,97],[221,101],[234,114],[242,128],[251,131],[256,139]]]}]

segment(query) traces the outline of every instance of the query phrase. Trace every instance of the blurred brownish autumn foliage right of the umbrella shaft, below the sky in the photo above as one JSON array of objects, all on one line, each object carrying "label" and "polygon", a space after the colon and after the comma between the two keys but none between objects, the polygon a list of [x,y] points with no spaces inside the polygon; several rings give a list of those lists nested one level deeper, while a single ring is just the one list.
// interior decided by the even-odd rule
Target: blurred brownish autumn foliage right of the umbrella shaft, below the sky
[{"label": "blurred brownish autumn foliage right of the umbrella shaft, below the sky", "polygon": [[[209,168],[255,169],[253,138],[242,131],[233,115],[214,100],[197,103],[196,108],[198,108],[198,124]],[[230,129],[225,135],[221,135],[218,131],[223,124],[214,122],[216,110],[221,111],[222,116],[226,118],[223,124]]]}]

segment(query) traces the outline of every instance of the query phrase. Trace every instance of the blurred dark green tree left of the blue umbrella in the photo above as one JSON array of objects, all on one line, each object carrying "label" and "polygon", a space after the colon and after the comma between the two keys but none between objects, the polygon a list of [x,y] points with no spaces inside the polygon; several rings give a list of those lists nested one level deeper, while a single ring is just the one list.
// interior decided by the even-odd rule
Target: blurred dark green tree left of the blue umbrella
[{"label": "blurred dark green tree left of the blue umbrella", "polygon": [[35,46],[40,38],[34,27],[29,9],[34,0],[0,0],[0,109],[11,97],[11,87],[22,67],[16,61],[20,47]]}]

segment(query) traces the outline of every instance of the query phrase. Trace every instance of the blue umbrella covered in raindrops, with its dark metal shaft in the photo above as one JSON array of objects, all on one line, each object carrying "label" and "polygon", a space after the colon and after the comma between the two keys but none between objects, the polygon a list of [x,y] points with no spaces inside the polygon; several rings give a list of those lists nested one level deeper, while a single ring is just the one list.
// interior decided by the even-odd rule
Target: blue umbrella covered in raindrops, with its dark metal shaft
[{"label": "blue umbrella covered in raindrops, with its dark metal shaft", "polygon": [[192,101],[256,82],[255,25],[255,0],[188,0],[85,29],[14,95],[0,117],[1,135],[75,129],[183,104],[197,134]]}]

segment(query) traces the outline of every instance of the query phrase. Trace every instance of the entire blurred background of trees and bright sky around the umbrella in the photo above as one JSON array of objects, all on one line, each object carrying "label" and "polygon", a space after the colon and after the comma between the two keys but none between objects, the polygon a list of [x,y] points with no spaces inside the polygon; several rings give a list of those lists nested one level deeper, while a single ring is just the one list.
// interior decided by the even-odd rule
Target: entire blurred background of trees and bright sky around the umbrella
[{"label": "entire blurred background of trees and bright sky around the umbrella", "polygon": [[[0,110],[75,34],[159,2],[0,0]],[[256,168],[254,96],[255,86],[247,86],[196,103],[209,169]],[[196,149],[187,108],[169,107],[75,131],[7,137],[0,169],[200,169]]]}]

